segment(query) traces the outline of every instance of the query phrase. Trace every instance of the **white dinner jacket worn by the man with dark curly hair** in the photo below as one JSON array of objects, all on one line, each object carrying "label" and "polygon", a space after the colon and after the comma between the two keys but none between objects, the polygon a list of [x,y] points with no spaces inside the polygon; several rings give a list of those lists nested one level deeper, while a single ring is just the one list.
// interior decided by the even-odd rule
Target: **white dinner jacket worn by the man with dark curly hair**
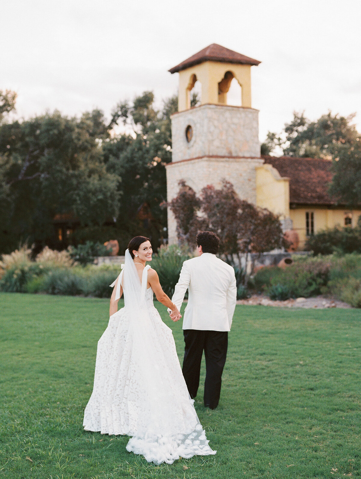
[{"label": "white dinner jacket worn by the man with dark curly hair", "polygon": [[187,288],[183,329],[231,331],[237,296],[232,266],[212,253],[187,260],[172,297],[179,310]]}]

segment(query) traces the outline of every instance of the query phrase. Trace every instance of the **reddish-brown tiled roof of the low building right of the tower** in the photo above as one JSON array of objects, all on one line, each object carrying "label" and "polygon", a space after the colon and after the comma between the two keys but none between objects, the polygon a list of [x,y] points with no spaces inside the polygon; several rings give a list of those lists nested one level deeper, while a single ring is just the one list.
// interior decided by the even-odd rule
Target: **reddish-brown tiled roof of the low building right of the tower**
[{"label": "reddish-brown tiled roof of the low building right of the tower", "polygon": [[290,204],[336,205],[327,192],[332,181],[331,161],[292,156],[262,156],[281,176],[290,178]]}]

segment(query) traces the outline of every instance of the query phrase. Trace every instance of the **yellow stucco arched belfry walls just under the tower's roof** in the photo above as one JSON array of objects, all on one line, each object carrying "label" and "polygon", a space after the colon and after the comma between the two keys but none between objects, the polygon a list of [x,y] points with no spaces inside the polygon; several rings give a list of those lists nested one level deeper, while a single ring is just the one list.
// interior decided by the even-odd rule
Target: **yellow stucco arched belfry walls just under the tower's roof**
[{"label": "yellow stucco arched belfry walls just under the tower's roof", "polygon": [[233,77],[242,87],[242,106],[251,108],[251,65],[205,61],[179,72],[178,111],[190,108],[190,90],[194,84],[193,75],[196,75],[202,85],[202,105],[206,103],[224,104],[227,94],[223,93],[219,97],[218,83],[227,71],[232,72]]}]

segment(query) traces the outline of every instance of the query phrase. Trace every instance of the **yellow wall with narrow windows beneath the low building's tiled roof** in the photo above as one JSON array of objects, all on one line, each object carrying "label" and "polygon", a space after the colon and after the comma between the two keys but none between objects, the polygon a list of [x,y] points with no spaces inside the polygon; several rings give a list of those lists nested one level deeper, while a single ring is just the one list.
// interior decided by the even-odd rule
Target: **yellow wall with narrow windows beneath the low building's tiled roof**
[{"label": "yellow wall with narrow windows beneath the low building's tiled roof", "polygon": [[347,208],[325,208],[322,206],[296,207],[290,210],[290,217],[295,229],[300,237],[299,250],[303,250],[306,241],[306,212],[314,213],[314,233],[322,229],[334,228],[335,226],[345,226],[345,215],[352,217],[351,227],[355,227],[357,220],[361,215],[361,209],[348,210]]}]

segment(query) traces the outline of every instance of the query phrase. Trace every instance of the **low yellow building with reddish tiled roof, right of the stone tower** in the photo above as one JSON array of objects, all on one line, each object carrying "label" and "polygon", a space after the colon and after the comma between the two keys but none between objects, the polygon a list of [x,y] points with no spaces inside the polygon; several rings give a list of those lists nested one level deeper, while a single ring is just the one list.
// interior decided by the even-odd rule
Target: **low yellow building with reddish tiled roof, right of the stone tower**
[{"label": "low yellow building with reddish tiled roof, right of the stone tower", "polygon": [[[263,159],[264,164],[256,169],[256,204],[281,218],[289,215],[300,239],[299,250],[303,250],[309,236],[319,231],[357,225],[361,207],[338,205],[328,194],[332,181],[330,161],[269,156]],[[267,175],[267,171],[275,170],[279,178]]]}]

